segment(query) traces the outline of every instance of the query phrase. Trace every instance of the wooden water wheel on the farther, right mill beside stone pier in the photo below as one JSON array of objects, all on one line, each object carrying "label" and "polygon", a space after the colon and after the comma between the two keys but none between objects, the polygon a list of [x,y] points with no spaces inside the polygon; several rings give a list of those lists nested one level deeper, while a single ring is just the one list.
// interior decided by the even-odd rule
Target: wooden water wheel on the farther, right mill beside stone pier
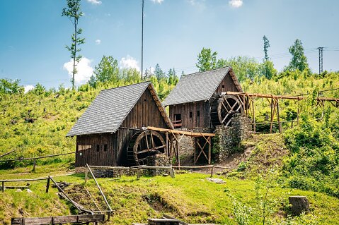
[{"label": "wooden water wheel on the farther, right mill beside stone pier", "polygon": [[213,126],[231,126],[234,114],[243,114],[243,105],[234,95],[224,95],[214,99],[211,107],[211,121]]}]

